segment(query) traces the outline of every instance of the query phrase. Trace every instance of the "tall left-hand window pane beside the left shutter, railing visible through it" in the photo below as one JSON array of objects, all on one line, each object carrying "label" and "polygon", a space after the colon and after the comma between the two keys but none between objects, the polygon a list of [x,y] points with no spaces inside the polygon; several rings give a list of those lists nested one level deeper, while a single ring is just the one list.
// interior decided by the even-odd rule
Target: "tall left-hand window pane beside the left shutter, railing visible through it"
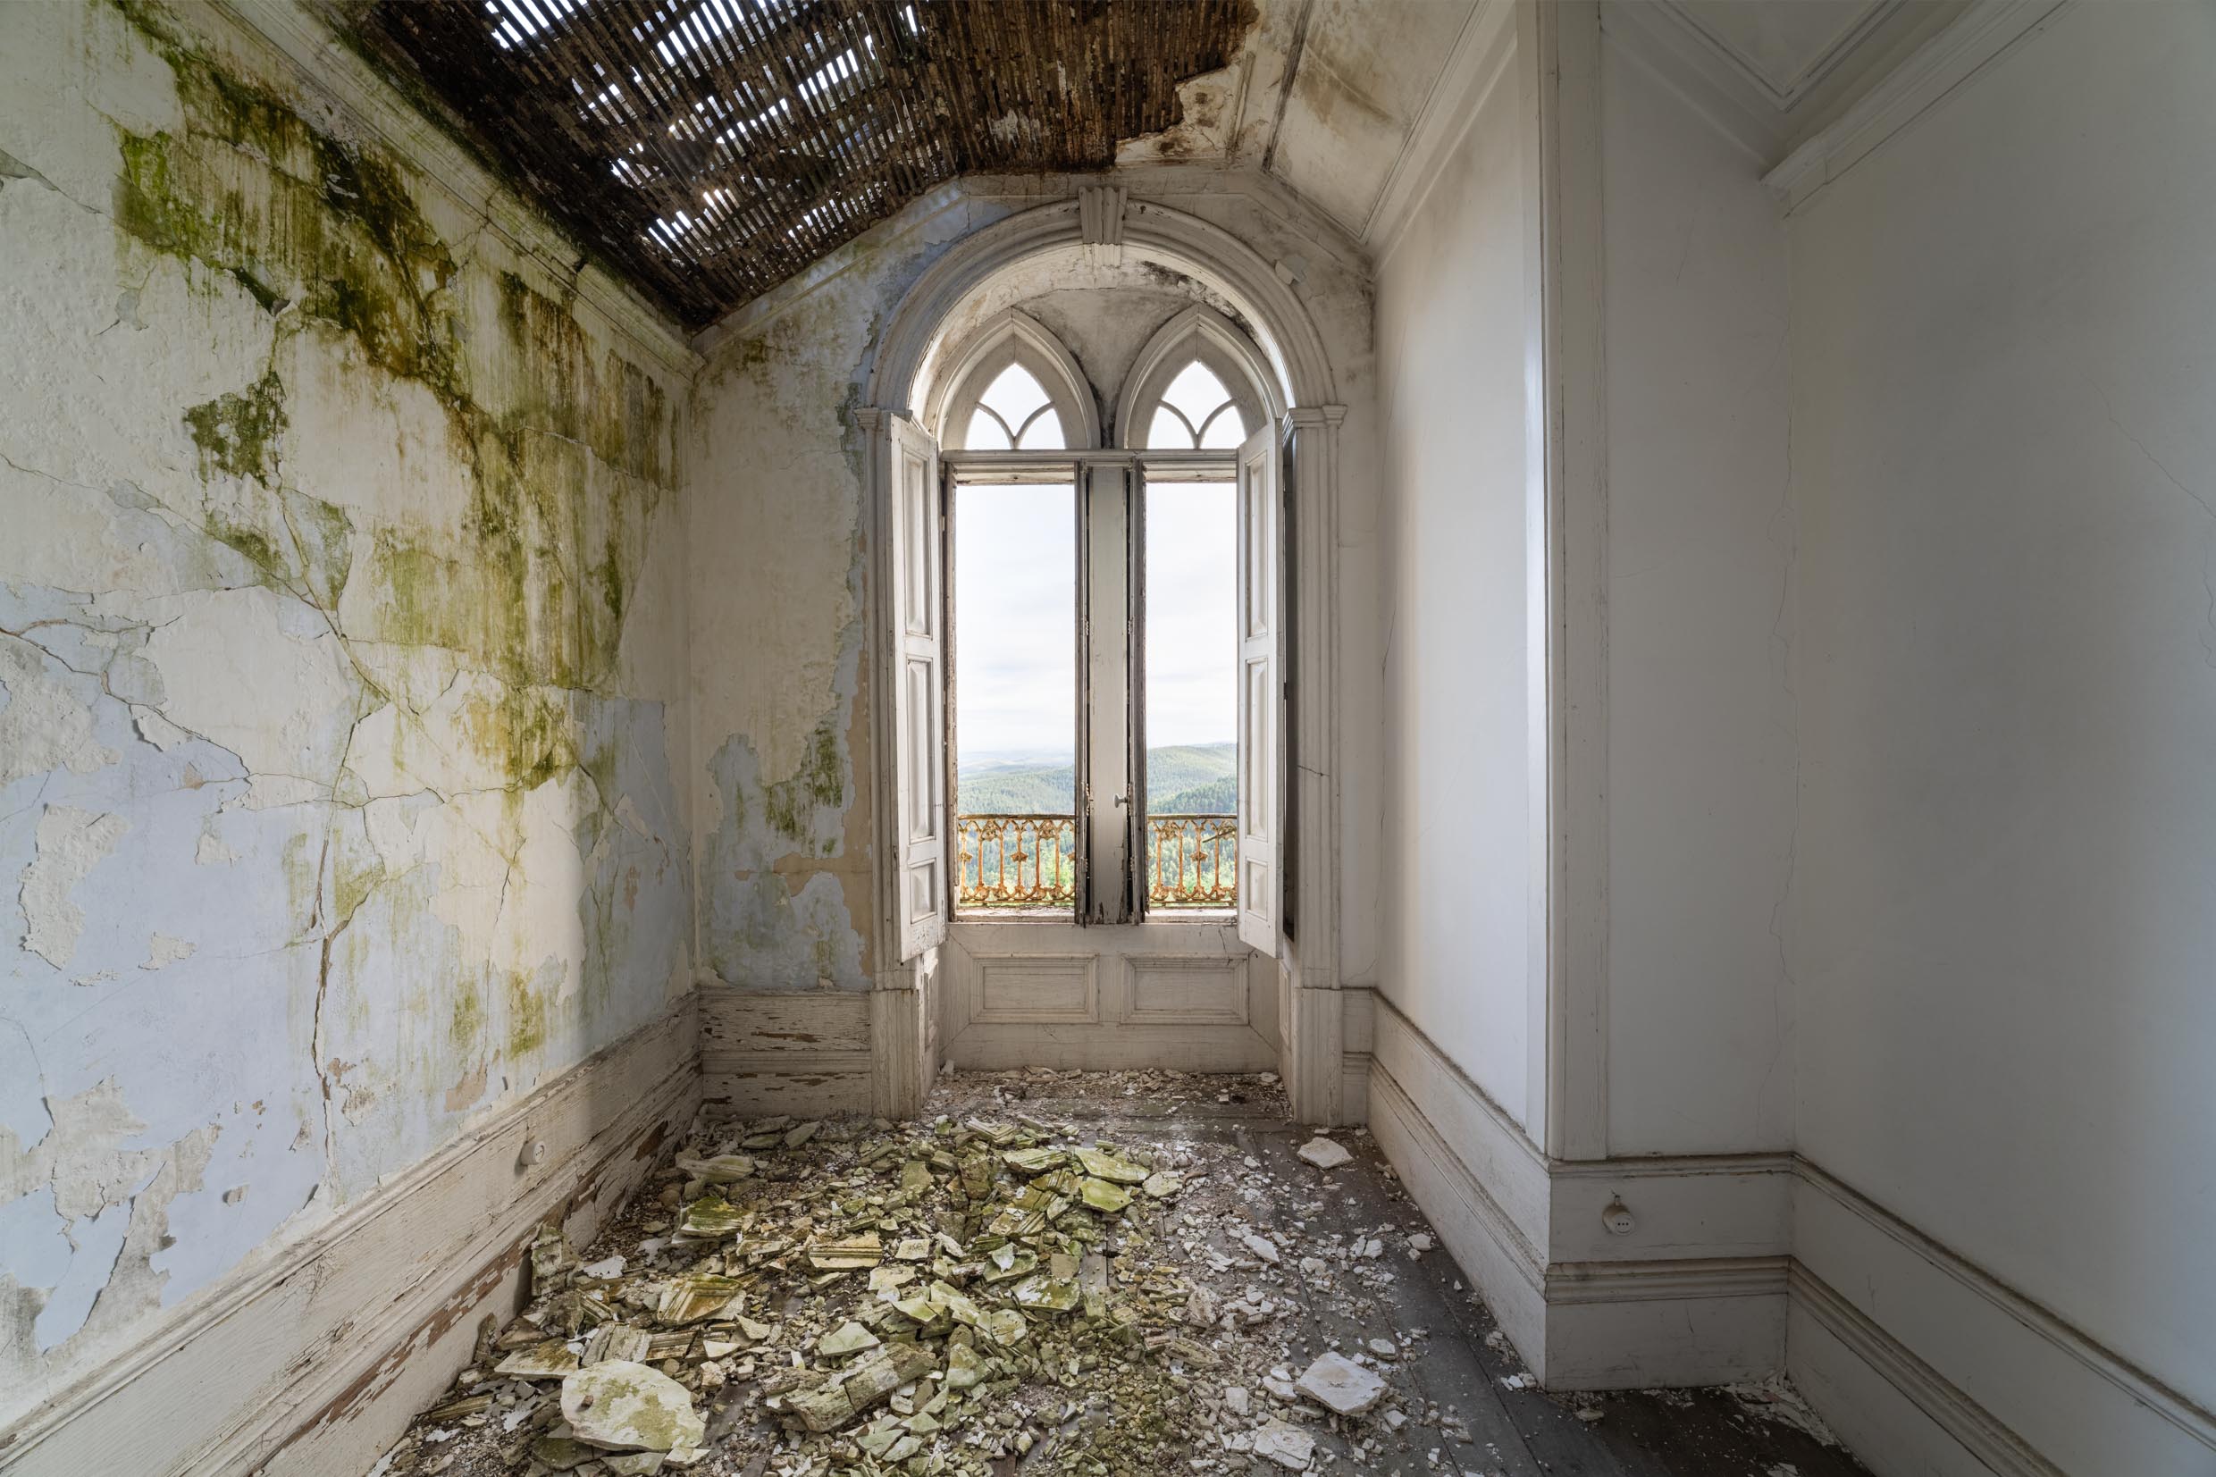
[{"label": "tall left-hand window pane beside the left shutter, railing visible through it", "polygon": [[1077,498],[955,487],[955,903],[1077,903]]}]

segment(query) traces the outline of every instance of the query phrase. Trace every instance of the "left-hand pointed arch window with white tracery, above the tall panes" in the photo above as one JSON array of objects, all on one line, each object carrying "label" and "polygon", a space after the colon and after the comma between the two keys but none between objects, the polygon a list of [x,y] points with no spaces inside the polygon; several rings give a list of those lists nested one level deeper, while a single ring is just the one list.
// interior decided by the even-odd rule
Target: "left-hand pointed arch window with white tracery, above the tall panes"
[{"label": "left-hand pointed arch window with white tracery, above the tall panes", "polygon": [[964,345],[937,407],[948,452],[1070,452],[1099,445],[1092,390],[1070,352],[1022,312],[1004,312]]}]

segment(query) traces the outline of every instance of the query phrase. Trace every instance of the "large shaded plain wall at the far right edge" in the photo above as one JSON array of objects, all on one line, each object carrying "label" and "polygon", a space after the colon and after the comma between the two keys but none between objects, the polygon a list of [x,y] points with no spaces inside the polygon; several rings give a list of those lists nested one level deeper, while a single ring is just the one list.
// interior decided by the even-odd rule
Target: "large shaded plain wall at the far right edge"
[{"label": "large shaded plain wall at the far right edge", "polygon": [[2072,7],[1791,221],[1799,1149],[2203,1408],[2212,78]]}]

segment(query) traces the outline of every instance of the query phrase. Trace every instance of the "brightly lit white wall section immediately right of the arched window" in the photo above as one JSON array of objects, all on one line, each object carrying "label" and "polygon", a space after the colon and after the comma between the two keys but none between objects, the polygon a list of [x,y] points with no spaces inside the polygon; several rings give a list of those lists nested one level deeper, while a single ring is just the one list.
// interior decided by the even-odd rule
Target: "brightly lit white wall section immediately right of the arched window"
[{"label": "brightly lit white wall section immediately right of the arched window", "polygon": [[1500,71],[1378,264],[1378,990],[1531,1127],[1522,73]]}]

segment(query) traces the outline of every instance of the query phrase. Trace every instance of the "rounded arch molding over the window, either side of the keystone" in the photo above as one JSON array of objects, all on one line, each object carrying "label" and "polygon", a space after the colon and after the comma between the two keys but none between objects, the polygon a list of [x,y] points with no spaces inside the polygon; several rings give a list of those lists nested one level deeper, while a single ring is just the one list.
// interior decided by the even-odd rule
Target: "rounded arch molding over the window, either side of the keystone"
[{"label": "rounded arch molding over the window, either side of the keystone", "polygon": [[[971,297],[991,290],[1004,272],[1066,250],[1086,250],[1081,206],[1061,199],[1010,215],[946,250],[900,299],[878,341],[866,403],[913,416],[935,410],[953,383],[942,328]],[[1336,401],[1332,363],[1307,308],[1261,255],[1232,233],[1183,210],[1130,202],[1121,217],[1126,257],[1186,272],[1221,292],[1252,326],[1268,361],[1272,412]],[[979,334],[982,337],[982,334]],[[975,343],[977,337],[971,339]],[[966,345],[962,345],[966,348]]]}]

